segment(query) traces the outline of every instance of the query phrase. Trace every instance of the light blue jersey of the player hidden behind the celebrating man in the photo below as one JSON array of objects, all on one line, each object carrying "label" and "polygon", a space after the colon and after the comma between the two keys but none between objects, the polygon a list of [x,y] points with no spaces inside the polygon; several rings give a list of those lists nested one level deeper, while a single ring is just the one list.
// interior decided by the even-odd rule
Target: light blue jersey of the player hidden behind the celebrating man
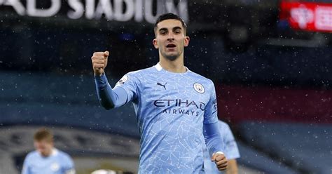
[{"label": "light blue jersey of the player hidden behind the celebrating man", "polygon": [[[238,159],[240,158],[240,152],[237,148],[237,144],[234,139],[234,135],[230,130],[230,127],[227,123],[223,121],[218,121],[219,124],[219,131],[221,134],[221,138],[223,138],[223,144],[225,145],[225,150],[223,153],[225,154],[226,158],[229,159]],[[206,147],[204,146],[204,168],[205,173],[222,173],[221,171],[216,168],[216,163],[211,161],[211,157],[209,152],[207,152]]]}]

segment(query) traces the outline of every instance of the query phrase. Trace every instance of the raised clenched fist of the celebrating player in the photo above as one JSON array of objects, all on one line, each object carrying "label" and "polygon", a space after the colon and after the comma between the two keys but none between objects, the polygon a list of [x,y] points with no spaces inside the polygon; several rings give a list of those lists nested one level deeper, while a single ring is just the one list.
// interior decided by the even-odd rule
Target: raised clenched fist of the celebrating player
[{"label": "raised clenched fist of the celebrating player", "polygon": [[109,51],[93,53],[91,60],[95,76],[101,76],[104,73],[104,69],[107,66],[107,58],[109,58]]}]

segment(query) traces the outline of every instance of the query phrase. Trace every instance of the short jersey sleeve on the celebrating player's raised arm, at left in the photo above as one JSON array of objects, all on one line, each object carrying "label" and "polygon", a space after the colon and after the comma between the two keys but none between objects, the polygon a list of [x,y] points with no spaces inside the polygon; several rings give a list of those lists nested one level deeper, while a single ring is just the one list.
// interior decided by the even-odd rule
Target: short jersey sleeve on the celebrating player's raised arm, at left
[{"label": "short jersey sleeve on the celebrating player's raised arm, at left", "polygon": [[137,98],[137,81],[138,79],[134,76],[134,72],[129,72],[116,83],[114,88],[125,89],[125,92],[127,93],[127,102],[129,102]]}]

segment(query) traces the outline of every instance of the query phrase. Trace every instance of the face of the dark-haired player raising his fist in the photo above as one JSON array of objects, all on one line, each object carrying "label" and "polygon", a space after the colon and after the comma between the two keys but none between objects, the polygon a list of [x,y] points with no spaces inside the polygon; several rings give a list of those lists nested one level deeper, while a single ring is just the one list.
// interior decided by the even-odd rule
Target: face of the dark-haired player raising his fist
[{"label": "face of the dark-haired player raising his fist", "polygon": [[184,53],[184,47],[188,44],[189,37],[186,36],[181,21],[162,20],[158,23],[153,46],[159,49],[162,57],[168,60],[176,60]]}]

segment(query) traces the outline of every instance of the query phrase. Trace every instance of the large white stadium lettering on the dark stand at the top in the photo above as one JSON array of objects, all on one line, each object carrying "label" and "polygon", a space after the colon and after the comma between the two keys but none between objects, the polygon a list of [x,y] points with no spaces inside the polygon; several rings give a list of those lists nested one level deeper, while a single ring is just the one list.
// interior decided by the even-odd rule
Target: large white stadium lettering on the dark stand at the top
[{"label": "large white stadium lettering on the dark stand at the top", "polygon": [[[153,23],[158,15],[162,13],[175,13],[188,22],[188,2],[179,1],[157,1],[157,14],[153,14],[153,0],[68,0],[67,4],[61,4],[61,0],[48,0],[50,6],[37,7],[37,0],[27,0],[26,7],[21,1],[0,1],[0,6],[12,6],[18,15],[33,17],[52,17],[60,12],[62,6],[69,6],[67,17],[73,20],[86,18],[88,20],[99,20],[104,15],[107,20],[125,22],[134,20],[136,22]],[[97,4],[97,6],[96,6]]]}]

